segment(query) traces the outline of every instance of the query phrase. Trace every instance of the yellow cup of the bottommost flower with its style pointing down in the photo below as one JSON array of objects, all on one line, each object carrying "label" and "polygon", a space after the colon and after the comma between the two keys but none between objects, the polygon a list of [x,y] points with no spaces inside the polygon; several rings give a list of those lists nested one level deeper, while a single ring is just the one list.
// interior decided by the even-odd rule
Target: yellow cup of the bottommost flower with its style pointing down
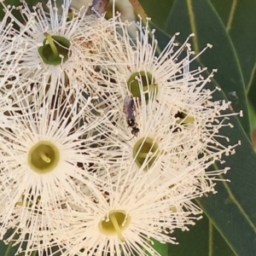
[{"label": "yellow cup of the bottommost flower with its style pointing down", "polygon": [[119,241],[125,241],[122,231],[128,228],[130,223],[131,217],[126,214],[125,211],[111,211],[108,216],[98,224],[98,228],[104,235],[117,235]]}]

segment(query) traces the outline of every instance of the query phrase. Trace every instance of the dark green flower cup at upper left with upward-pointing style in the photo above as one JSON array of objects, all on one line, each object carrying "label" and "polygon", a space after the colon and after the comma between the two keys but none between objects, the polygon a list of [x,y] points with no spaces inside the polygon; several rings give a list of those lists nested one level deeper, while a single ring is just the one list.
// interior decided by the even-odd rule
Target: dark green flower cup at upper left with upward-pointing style
[{"label": "dark green flower cup at upper left with upward-pointing style", "polygon": [[56,66],[67,61],[70,47],[70,42],[67,38],[51,36],[46,32],[44,37],[43,46],[38,48],[38,54],[44,63]]}]

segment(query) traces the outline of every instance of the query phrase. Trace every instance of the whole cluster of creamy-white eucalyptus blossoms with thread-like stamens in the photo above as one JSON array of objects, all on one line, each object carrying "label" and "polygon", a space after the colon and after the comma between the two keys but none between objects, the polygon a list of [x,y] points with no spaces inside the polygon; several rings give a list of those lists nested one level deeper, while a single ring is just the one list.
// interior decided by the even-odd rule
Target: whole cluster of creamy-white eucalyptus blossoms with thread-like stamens
[{"label": "whole cluster of creamy-white eucalyptus blossoms with thread-like stamens", "polygon": [[158,53],[148,21],[69,5],[24,2],[21,22],[3,3],[1,239],[25,255],[160,255],[153,240],[177,244],[228,170],[212,164],[238,144],[221,143],[230,102],[212,100],[215,70],[190,70],[193,35]]}]

